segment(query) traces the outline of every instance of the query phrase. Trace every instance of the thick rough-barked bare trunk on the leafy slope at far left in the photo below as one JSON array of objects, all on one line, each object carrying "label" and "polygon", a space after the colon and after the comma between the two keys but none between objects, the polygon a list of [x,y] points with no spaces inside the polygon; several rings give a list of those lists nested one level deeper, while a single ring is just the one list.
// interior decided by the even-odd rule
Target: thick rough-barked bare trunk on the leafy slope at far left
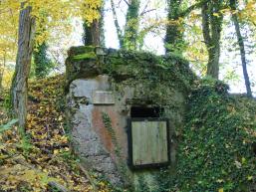
[{"label": "thick rough-barked bare trunk on the leafy slope at far left", "polygon": [[18,53],[12,80],[11,101],[14,114],[19,118],[19,126],[25,128],[27,117],[28,77],[30,73],[35,35],[35,18],[32,7],[21,4],[19,16]]}]

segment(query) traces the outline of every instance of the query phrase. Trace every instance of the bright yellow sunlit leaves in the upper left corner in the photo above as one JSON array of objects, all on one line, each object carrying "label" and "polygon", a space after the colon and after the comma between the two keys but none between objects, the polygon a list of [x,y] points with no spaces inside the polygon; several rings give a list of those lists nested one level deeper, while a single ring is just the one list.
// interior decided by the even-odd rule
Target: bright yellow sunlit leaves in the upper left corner
[{"label": "bright yellow sunlit leaves in the upper left corner", "polygon": [[[21,2],[3,0],[0,4],[0,67],[3,66],[4,57],[7,62],[16,60]],[[49,38],[58,39],[58,34],[69,34],[74,17],[82,17],[92,23],[99,18],[98,8],[101,4],[101,0],[27,0],[25,6],[32,6],[32,16],[36,18],[35,45]]]}]

